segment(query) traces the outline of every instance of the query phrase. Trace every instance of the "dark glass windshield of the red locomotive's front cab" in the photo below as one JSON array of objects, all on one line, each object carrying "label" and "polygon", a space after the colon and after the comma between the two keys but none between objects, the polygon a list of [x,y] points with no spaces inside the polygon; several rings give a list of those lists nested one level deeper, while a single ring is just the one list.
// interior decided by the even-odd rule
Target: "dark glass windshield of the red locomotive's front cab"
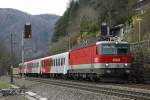
[{"label": "dark glass windshield of the red locomotive's front cab", "polygon": [[128,54],[128,44],[101,44],[98,46],[99,54],[114,55],[114,54]]}]

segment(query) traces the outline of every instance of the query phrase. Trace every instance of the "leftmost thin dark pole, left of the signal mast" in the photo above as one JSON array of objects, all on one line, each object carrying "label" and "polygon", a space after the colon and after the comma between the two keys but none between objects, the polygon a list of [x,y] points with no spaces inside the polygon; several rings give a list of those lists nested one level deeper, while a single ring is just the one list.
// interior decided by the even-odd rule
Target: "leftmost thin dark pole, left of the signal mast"
[{"label": "leftmost thin dark pole, left of the signal mast", "polygon": [[11,66],[10,66],[10,82],[13,83],[13,34],[11,33]]}]

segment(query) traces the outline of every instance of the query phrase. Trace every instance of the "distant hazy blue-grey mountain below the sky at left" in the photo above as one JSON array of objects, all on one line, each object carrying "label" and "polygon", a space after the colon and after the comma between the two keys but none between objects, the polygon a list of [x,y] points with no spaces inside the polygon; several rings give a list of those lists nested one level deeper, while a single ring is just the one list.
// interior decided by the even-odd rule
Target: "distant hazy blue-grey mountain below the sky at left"
[{"label": "distant hazy blue-grey mountain below the sky at left", "polygon": [[15,9],[0,9],[0,37],[5,41],[7,48],[10,49],[10,33],[16,34],[13,37],[16,43],[14,50],[19,56],[21,54],[21,34],[24,31],[24,25],[26,22],[31,22],[32,39],[25,40],[25,49],[28,57],[36,57],[45,53],[58,19],[59,16],[57,15],[30,15]]}]

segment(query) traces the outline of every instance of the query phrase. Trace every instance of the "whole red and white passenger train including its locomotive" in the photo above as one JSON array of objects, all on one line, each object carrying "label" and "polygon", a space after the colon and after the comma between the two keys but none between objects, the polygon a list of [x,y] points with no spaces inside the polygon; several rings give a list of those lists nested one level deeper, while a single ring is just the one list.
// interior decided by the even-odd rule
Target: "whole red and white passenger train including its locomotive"
[{"label": "whole red and white passenger train including its locomotive", "polygon": [[71,79],[128,79],[128,42],[99,41],[93,45],[19,64],[19,74]]}]

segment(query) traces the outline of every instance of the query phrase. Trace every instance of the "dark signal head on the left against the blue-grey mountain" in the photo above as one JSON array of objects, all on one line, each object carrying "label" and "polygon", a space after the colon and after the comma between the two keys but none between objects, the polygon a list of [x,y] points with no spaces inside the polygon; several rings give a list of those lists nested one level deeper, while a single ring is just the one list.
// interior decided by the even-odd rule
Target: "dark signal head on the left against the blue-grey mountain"
[{"label": "dark signal head on the left against the blue-grey mountain", "polygon": [[26,23],[24,26],[24,38],[28,39],[32,37],[31,23]]}]

